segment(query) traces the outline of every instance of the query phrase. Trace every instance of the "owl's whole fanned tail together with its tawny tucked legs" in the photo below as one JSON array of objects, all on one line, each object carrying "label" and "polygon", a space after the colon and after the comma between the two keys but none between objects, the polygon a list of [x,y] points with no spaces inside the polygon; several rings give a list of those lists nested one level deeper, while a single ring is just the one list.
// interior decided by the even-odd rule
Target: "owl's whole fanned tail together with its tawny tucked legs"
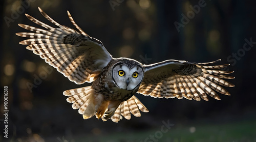
[{"label": "owl's whole fanned tail together with its tawny tucked legs", "polygon": [[135,117],[140,117],[140,111],[148,112],[148,109],[133,96],[127,101],[106,101],[102,94],[96,94],[92,86],[67,90],[63,95],[68,96],[67,101],[72,104],[73,109],[83,115],[83,119],[96,116],[97,119],[106,121],[111,119],[118,122],[122,116],[130,120],[131,113]]}]

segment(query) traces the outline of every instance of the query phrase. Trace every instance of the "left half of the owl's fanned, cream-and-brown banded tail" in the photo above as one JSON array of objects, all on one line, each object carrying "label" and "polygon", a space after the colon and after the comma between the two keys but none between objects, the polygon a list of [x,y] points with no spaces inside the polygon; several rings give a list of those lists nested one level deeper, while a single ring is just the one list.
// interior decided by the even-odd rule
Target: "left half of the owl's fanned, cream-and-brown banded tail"
[{"label": "left half of the owl's fanned, cream-and-brown banded tail", "polygon": [[63,95],[69,96],[67,102],[73,103],[73,109],[79,108],[78,112],[83,115],[83,119],[89,119],[96,114],[95,92],[92,86],[67,90]]}]

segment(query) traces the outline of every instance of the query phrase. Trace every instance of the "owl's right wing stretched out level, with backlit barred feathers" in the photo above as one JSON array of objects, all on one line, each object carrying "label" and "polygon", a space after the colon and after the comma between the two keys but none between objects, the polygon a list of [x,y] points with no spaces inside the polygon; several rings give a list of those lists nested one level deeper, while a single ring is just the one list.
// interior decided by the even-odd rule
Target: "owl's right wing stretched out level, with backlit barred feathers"
[{"label": "owl's right wing stretched out level, with backlit barred feathers", "polygon": [[[220,60],[217,60],[220,61]],[[220,100],[215,92],[230,95],[223,87],[234,85],[225,79],[234,77],[226,74],[233,71],[220,70],[228,66],[215,65],[216,63],[189,63],[186,61],[166,60],[160,63],[144,65],[145,74],[138,93],[150,95],[155,98],[195,99],[197,101],[208,100],[209,96]]]}]

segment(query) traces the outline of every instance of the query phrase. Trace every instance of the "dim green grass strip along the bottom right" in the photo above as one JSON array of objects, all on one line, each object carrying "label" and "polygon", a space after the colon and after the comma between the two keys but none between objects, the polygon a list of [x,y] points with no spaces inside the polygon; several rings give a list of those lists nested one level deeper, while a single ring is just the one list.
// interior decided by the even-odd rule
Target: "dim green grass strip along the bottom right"
[{"label": "dim green grass strip along the bottom right", "polygon": [[159,126],[159,129],[148,131],[136,131],[130,133],[110,133],[102,135],[83,135],[76,136],[71,141],[252,141],[256,142],[256,121],[240,121],[221,124],[181,124],[174,125],[172,128]]}]

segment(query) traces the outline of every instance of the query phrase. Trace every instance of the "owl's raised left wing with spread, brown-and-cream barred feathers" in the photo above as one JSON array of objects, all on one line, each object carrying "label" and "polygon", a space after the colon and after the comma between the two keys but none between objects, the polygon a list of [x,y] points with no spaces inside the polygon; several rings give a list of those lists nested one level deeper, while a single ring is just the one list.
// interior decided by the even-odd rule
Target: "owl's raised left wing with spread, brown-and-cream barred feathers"
[{"label": "owl's raised left wing with spread, brown-and-cream barred feathers", "polygon": [[30,38],[19,43],[29,45],[26,47],[27,49],[40,55],[40,58],[68,77],[69,80],[77,84],[94,81],[102,68],[108,65],[112,59],[112,56],[103,44],[84,33],[75,23],[69,12],[69,19],[79,32],[68,26],[60,25],[39,7],[38,9],[46,19],[58,27],[51,27],[26,14],[31,21],[44,27],[46,30],[30,25],[18,24],[20,27],[33,32],[16,33],[20,37]]}]

